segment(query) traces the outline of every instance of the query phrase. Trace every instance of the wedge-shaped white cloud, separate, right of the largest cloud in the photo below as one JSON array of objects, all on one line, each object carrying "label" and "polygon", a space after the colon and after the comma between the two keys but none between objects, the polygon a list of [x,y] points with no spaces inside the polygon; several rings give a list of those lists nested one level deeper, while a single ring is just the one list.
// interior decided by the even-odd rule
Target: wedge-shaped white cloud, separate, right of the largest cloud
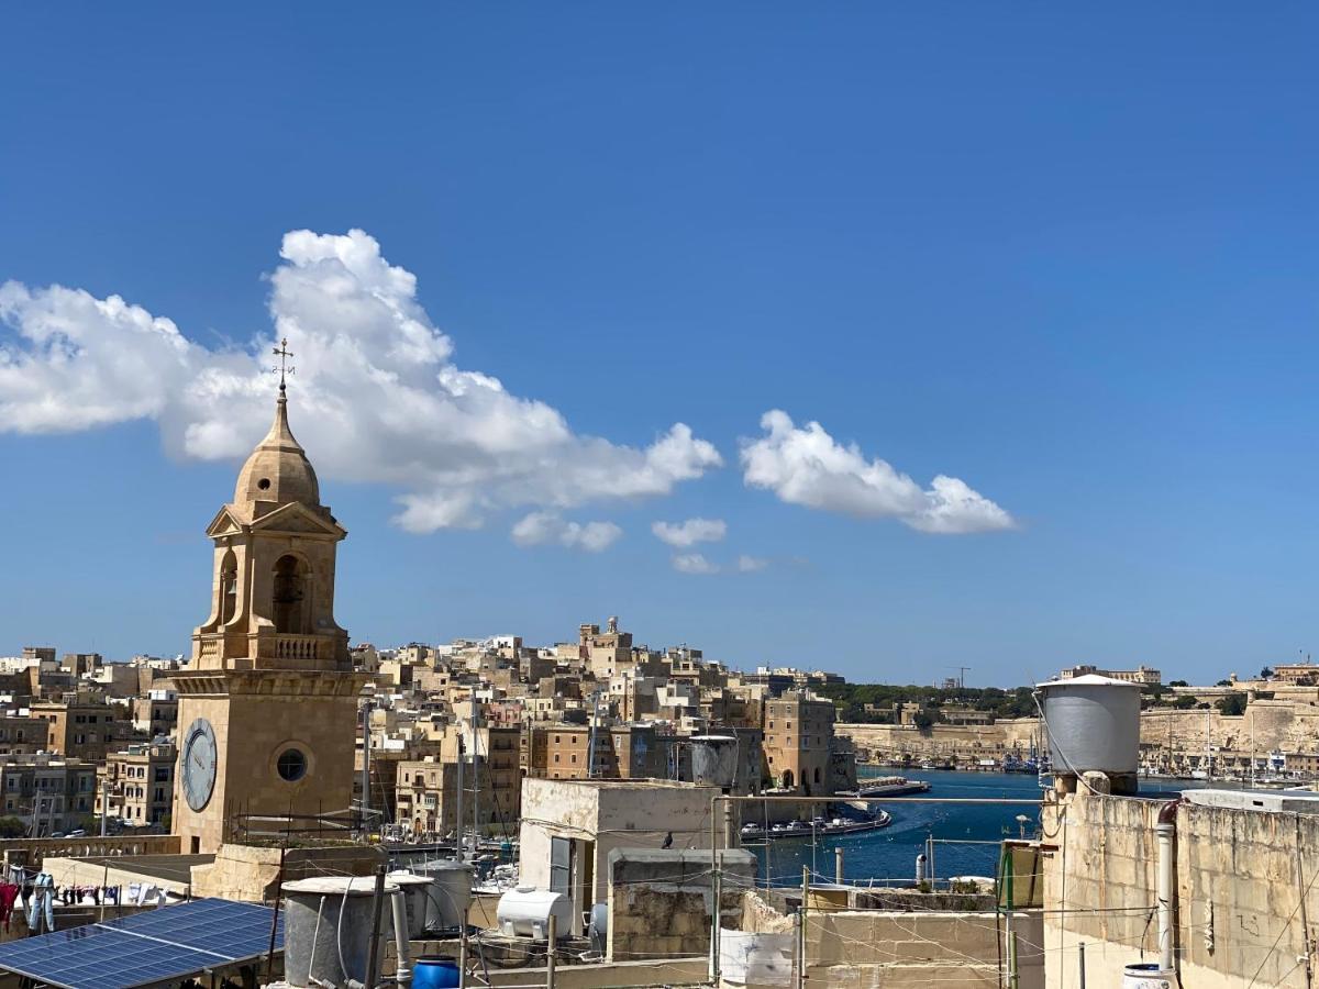
[{"label": "wedge-shaped white cloud, separate, right of the largest cloud", "polygon": [[780,500],[860,518],[898,518],[923,533],[1012,529],[1012,516],[956,477],[939,475],[922,489],[907,475],[853,443],[842,446],[818,422],[793,425],[787,413],[761,417],[765,435],[743,443],[743,480]]}]

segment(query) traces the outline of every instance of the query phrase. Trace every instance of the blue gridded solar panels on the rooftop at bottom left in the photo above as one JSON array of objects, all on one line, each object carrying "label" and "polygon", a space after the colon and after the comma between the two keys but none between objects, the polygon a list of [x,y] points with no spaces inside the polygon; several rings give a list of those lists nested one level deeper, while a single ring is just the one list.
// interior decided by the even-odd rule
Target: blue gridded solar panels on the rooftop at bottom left
[{"label": "blue gridded solar panels on the rooftop at bottom left", "polygon": [[[194,899],[0,944],[0,969],[65,989],[132,989],[264,955],[270,907]],[[284,948],[284,915],[274,935]]]}]

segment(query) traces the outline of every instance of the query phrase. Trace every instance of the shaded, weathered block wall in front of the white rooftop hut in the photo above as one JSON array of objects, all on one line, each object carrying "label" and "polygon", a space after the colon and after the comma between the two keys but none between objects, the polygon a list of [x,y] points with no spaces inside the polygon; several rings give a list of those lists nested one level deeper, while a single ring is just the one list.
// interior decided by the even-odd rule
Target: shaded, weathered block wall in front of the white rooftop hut
[{"label": "shaded, weathered block wall in front of the white rooftop hut", "polygon": [[[756,856],[723,852],[719,915],[741,915],[743,891],[754,885]],[[615,849],[609,854],[611,961],[708,955],[714,876],[704,852]]]}]

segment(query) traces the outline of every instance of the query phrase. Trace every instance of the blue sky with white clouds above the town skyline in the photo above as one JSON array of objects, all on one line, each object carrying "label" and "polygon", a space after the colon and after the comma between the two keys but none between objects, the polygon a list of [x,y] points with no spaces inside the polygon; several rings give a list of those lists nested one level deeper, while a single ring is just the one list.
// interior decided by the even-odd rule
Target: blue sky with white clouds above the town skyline
[{"label": "blue sky with white clouds above the town skyline", "polygon": [[[735,665],[915,682],[966,665],[971,683],[1078,662],[1217,679],[1308,651],[1316,21],[12,9],[0,654],[187,647],[202,530],[269,417],[251,351],[272,315],[306,327],[291,418],[350,530],[355,640],[551,642],[617,613]],[[303,229],[324,236],[290,248]],[[386,301],[435,351],[400,372],[418,396],[450,367],[497,378],[495,405],[400,425],[364,377],[393,338],[355,365],[342,345],[364,331],[315,295],[352,244],[368,282],[415,276]],[[137,355],[116,295],[187,353]],[[69,349],[96,361],[34,342],[83,318]],[[818,422],[834,460],[770,443],[748,484],[770,410],[793,440]],[[674,423],[681,464],[638,465]],[[984,500],[977,531],[922,530],[939,475]],[[427,531],[398,524],[400,497]],[[537,545],[510,538],[528,516]],[[652,534],[692,518],[723,539]],[[572,524],[621,534],[586,545]],[[674,567],[692,553],[719,572]]]}]

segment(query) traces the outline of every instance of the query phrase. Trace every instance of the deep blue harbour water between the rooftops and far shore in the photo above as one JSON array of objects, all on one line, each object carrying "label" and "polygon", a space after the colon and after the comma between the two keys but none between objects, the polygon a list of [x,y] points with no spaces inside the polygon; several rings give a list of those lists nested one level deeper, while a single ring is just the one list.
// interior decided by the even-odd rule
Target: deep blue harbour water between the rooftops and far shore
[{"label": "deep blue harbour water between the rooftops and far shore", "polygon": [[[861,769],[861,778],[896,775],[901,773],[907,779],[925,779],[930,790],[923,796],[967,796],[967,798],[1009,798],[1038,800],[1039,781],[1026,773],[950,773],[925,770]],[[1142,790],[1170,791],[1186,785],[1173,781],[1142,781]],[[1198,783],[1203,786],[1203,783]],[[834,849],[843,849],[843,876],[849,882],[874,880],[913,881],[915,878],[915,857],[926,848],[926,840],[933,835],[935,874],[948,876],[993,876],[998,862],[998,843],[1004,837],[1017,837],[1021,824],[1017,815],[1030,820],[1025,825],[1026,836],[1031,836],[1039,824],[1038,808],[1025,804],[955,804],[955,803],[876,803],[893,815],[893,824],[880,831],[865,831],[857,835],[819,836],[815,841],[802,839],[776,839],[768,847],[748,847],[761,860],[760,877],[764,882],[765,860],[769,861],[769,876],[774,885],[795,886],[802,881],[802,866],[816,874],[816,881],[832,880]],[[754,820],[756,804],[748,803],[743,810],[744,820]],[[954,844],[942,844],[950,841]],[[956,844],[968,843],[968,844]],[[988,844],[969,844],[988,843]]]}]

